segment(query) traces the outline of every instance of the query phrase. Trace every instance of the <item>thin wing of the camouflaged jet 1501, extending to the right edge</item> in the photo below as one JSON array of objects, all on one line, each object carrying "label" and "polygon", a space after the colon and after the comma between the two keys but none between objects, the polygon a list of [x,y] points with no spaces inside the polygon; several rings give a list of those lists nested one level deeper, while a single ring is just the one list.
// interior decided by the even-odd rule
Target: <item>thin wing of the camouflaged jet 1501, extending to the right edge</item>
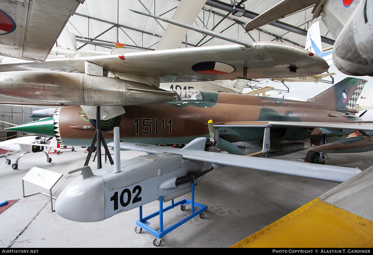
[{"label": "thin wing of the camouflaged jet 1501, extending to the right edge", "polygon": [[295,127],[295,128],[328,128],[328,129],[351,129],[373,131],[373,124],[368,123],[348,123],[348,122],[296,122],[296,121],[237,121],[216,123],[214,128],[220,127],[232,128],[266,128],[277,127]]}]

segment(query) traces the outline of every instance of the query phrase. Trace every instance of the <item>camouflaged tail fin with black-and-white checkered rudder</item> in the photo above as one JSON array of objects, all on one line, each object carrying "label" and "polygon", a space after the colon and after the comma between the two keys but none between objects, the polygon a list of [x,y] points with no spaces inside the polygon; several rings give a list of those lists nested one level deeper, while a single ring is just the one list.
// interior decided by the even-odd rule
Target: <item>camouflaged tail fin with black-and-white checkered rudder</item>
[{"label": "camouflaged tail fin with black-and-white checkered rudder", "polygon": [[363,79],[347,77],[308,101],[321,103],[327,110],[347,112],[354,108],[366,82]]}]

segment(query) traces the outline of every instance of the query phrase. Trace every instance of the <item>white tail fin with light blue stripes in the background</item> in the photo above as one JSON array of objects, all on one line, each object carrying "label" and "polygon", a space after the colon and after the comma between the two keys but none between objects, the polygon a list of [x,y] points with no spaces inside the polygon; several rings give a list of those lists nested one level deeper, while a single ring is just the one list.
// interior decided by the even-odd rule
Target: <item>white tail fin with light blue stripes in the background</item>
[{"label": "white tail fin with light blue stripes in the background", "polygon": [[319,21],[313,23],[310,28],[308,28],[304,49],[322,57],[328,65],[334,65],[332,58],[333,50],[331,49],[324,52],[322,50]]}]

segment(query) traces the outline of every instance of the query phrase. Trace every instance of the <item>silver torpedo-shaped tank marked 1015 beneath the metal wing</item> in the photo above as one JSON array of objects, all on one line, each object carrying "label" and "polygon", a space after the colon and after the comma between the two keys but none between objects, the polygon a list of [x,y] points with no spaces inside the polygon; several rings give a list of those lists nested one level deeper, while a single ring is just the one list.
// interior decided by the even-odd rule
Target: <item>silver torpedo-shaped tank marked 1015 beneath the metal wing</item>
[{"label": "silver torpedo-shaped tank marked 1015 beneath the metal wing", "polygon": [[160,103],[175,93],[134,81],[70,72],[0,73],[0,94],[44,103],[127,106]]}]

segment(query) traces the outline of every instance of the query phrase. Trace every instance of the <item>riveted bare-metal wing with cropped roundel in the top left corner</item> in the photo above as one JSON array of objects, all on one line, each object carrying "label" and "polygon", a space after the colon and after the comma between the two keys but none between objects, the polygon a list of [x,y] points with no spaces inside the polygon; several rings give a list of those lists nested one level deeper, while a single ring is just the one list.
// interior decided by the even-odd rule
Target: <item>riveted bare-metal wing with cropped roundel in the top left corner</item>
[{"label": "riveted bare-metal wing with cropped roundel in the top left corner", "polygon": [[0,54],[44,61],[84,0],[1,1]]}]

